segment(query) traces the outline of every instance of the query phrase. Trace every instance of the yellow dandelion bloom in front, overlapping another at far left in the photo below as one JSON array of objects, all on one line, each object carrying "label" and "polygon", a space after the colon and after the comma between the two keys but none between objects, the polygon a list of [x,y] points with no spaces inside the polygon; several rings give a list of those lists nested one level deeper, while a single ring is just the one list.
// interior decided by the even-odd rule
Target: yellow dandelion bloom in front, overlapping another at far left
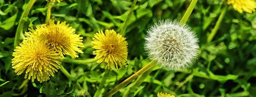
[{"label": "yellow dandelion bloom in front, overlapping another at far left", "polygon": [[25,72],[25,79],[37,79],[40,83],[54,77],[61,68],[60,56],[44,40],[28,38],[13,52],[12,68],[17,75]]}]

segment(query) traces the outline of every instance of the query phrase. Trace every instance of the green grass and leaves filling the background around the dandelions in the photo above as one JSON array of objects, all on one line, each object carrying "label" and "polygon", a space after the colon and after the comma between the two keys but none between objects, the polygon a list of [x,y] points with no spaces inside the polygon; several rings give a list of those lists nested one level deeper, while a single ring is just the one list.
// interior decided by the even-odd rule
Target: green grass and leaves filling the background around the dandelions
[{"label": "green grass and leaves filling the background around the dandelions", "polygon": [[[98,63],[66,60],[63,67],[74,79],[59,70],[44,83],[17,76],[11,66],[15,32],[29,0],[0,0],[0,97],[93,97],[105,69]],[[128,41],[125,68],[108,72],[105,94],[148,64],[144,50],[145,34],[161,19],[181,20],[191,0],[138,0],[127,23]],[[53,3],[51,19],[66,21],[84,38],[77,60],[94,58],[91,41],[99,30],[121,32],[133,0],[64,0]],[[208,41],[223,9],[219,29]],[[37,0],[24,18],[23,32],[45,23],[47,2]],[[113,97],[156,97],[166,92],[177,97],[256,97],[256,12],[238,13],[226,0],[198,0],[187,24],[196,32],[200,55],[187,71],[165,71],[155,67]],[[21,38],[24,36],[21,35]],[[70,58],[66,56],[66,58]],[[140,83],[133,86],[134,83]],[[130,90],[130,91],[129,91]]]}]

